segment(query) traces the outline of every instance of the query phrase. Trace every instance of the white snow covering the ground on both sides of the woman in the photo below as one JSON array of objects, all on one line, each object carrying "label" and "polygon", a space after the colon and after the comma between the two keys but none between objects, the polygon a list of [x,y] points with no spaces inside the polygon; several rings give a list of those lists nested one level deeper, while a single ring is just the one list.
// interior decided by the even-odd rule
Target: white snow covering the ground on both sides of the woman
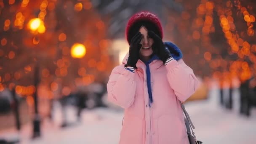
[{"label": "white snow covering the ground on both sides of the woman", "polygon": [[[237,91],[234,92],[237,99]],[[219,105],[218,91],[210,92],[209,99],[192,101],[185,104],[195,133],[203,144],[256,144],[256,109],[251,117],[238,113],[238,102],[232,111]],[[75,108],[67,109],[69,122],[75,122]],[[23,126],[19,136],[21,144],[118,144],[119,132],[123,119],[120,109],[98,108],[85,110],[80,123],[67,128],[60,128],[61,115],[58,104],[55,104],[54,122],[44,121],[42,136],[31,140],[32,125]],[[15,131],[0,131],[0,136],[13,139]]]}]

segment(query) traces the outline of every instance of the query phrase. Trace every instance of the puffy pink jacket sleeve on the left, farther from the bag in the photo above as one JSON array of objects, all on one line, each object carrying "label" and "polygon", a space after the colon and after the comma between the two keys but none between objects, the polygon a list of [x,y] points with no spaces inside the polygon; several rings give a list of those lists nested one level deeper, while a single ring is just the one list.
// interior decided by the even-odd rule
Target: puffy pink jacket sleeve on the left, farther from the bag
[{"label": "puffy pink jacket sleeve on the left, farther from the bag", "polygon": [[136,91],[134,75],[134,72],[124,69],[124,64],[115,67],[107,83],[108,101],[123,108],[130,107]]}]

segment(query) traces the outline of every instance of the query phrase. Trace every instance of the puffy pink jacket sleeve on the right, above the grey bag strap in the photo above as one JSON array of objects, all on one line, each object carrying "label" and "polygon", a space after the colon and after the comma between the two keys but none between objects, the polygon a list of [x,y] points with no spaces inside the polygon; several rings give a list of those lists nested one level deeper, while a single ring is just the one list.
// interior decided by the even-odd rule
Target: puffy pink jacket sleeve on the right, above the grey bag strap
[{"label": "puffy pink jacket sleeve on the right, above the grey bag strap", "polygon": [[182,59],[179,61],[173,59],[165,67],[167,69],[168,82],[177,98],[181,102],[186,101],[199,86],[193,70]]}]

